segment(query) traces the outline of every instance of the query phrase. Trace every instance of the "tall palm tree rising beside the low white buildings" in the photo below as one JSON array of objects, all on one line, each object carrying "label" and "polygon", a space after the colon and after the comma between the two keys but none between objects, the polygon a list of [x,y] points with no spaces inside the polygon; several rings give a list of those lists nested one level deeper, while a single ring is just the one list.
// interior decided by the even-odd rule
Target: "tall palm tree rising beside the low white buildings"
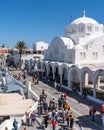
[{"label": "tall palm tree rising beside the low white buildings", "polygon": [[25,44],[24,41],[18,41],[18,42],[17,42],[17,45],[16,45],[16,48],[18,49],[18,52],[19,52],[19,55],[20,55],[19,65],[20,65],[20,69],[21,69],[21,65],[22,65],[21,57],[22,57],[22,54],[23,54],[24,50],[25,50],[27,47],[26,47],[26,44]]}]

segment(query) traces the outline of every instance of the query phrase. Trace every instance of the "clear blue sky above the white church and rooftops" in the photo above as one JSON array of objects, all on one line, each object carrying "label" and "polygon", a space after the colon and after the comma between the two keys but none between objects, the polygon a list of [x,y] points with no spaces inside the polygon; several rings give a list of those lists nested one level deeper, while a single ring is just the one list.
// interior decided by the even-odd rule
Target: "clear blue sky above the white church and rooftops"
[{"label": "clear blue sky above the white church and rooftops", "polygon": [[104,24],[104,0],[0,0],[0,45],[13,47],[20,40],[28,47],[38,41],[50,44],[83,10]]}]

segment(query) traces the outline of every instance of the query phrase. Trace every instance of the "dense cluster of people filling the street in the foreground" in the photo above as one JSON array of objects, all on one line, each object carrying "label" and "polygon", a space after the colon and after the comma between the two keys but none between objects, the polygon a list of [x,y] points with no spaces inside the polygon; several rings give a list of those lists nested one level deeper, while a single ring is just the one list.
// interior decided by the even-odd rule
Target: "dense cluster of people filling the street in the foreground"
[{"label": "dense cluster of people filling the street in the foreground", "polygon": [[66,93],[61,93],[58,101],[54,98],[47,101],[47,95],[43,89],[38,104],[38,116],[40,117],[41,115],[44,115],[44,120],[42,123],[45,128],[50,125],[52,130],[56,130],[58,123],[61,125],[60,130],[73,128],[75,116],[70,110]]}]

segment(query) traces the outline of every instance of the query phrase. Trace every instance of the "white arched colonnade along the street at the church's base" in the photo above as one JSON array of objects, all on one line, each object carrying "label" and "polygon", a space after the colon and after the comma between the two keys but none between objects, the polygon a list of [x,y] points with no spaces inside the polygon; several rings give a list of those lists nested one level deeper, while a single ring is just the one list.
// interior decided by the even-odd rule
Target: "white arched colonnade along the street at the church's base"
[{"label": "white arched colonnade along the street at the church's base", "polygon": [[[42,72],[42,77],[56,81],[68,90],[74,90],[82,94],[84,90],[90,90],[89,95],[96,97],[96,91],[104,88],[104,70],[92,71],[88,67],[79,68],[59,62],[38,61],[37,67]],[[102,89],[103,90],[103,89]]]}]

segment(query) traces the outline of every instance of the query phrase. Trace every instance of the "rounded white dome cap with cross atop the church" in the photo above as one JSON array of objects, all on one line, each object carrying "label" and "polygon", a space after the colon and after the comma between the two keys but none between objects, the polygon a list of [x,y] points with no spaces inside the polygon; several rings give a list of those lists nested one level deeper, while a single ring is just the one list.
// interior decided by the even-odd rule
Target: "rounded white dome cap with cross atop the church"
[{"label": "rounded white dome cap with cross atop the church", "polygon": [[84,11],[83,17],[80,17],[80,18],[78,18],[78,19],[75,19],[74,21],[72,21],[71,24],[80,24],[80,23],[83,23],[83,24],[87,24],[87,23],[99,24],[96,20],[94,20],[94,19],[92,19],[92,18],[89,18],[89,17],[86,17],[86,16],[85,16],[85,11]]}]

